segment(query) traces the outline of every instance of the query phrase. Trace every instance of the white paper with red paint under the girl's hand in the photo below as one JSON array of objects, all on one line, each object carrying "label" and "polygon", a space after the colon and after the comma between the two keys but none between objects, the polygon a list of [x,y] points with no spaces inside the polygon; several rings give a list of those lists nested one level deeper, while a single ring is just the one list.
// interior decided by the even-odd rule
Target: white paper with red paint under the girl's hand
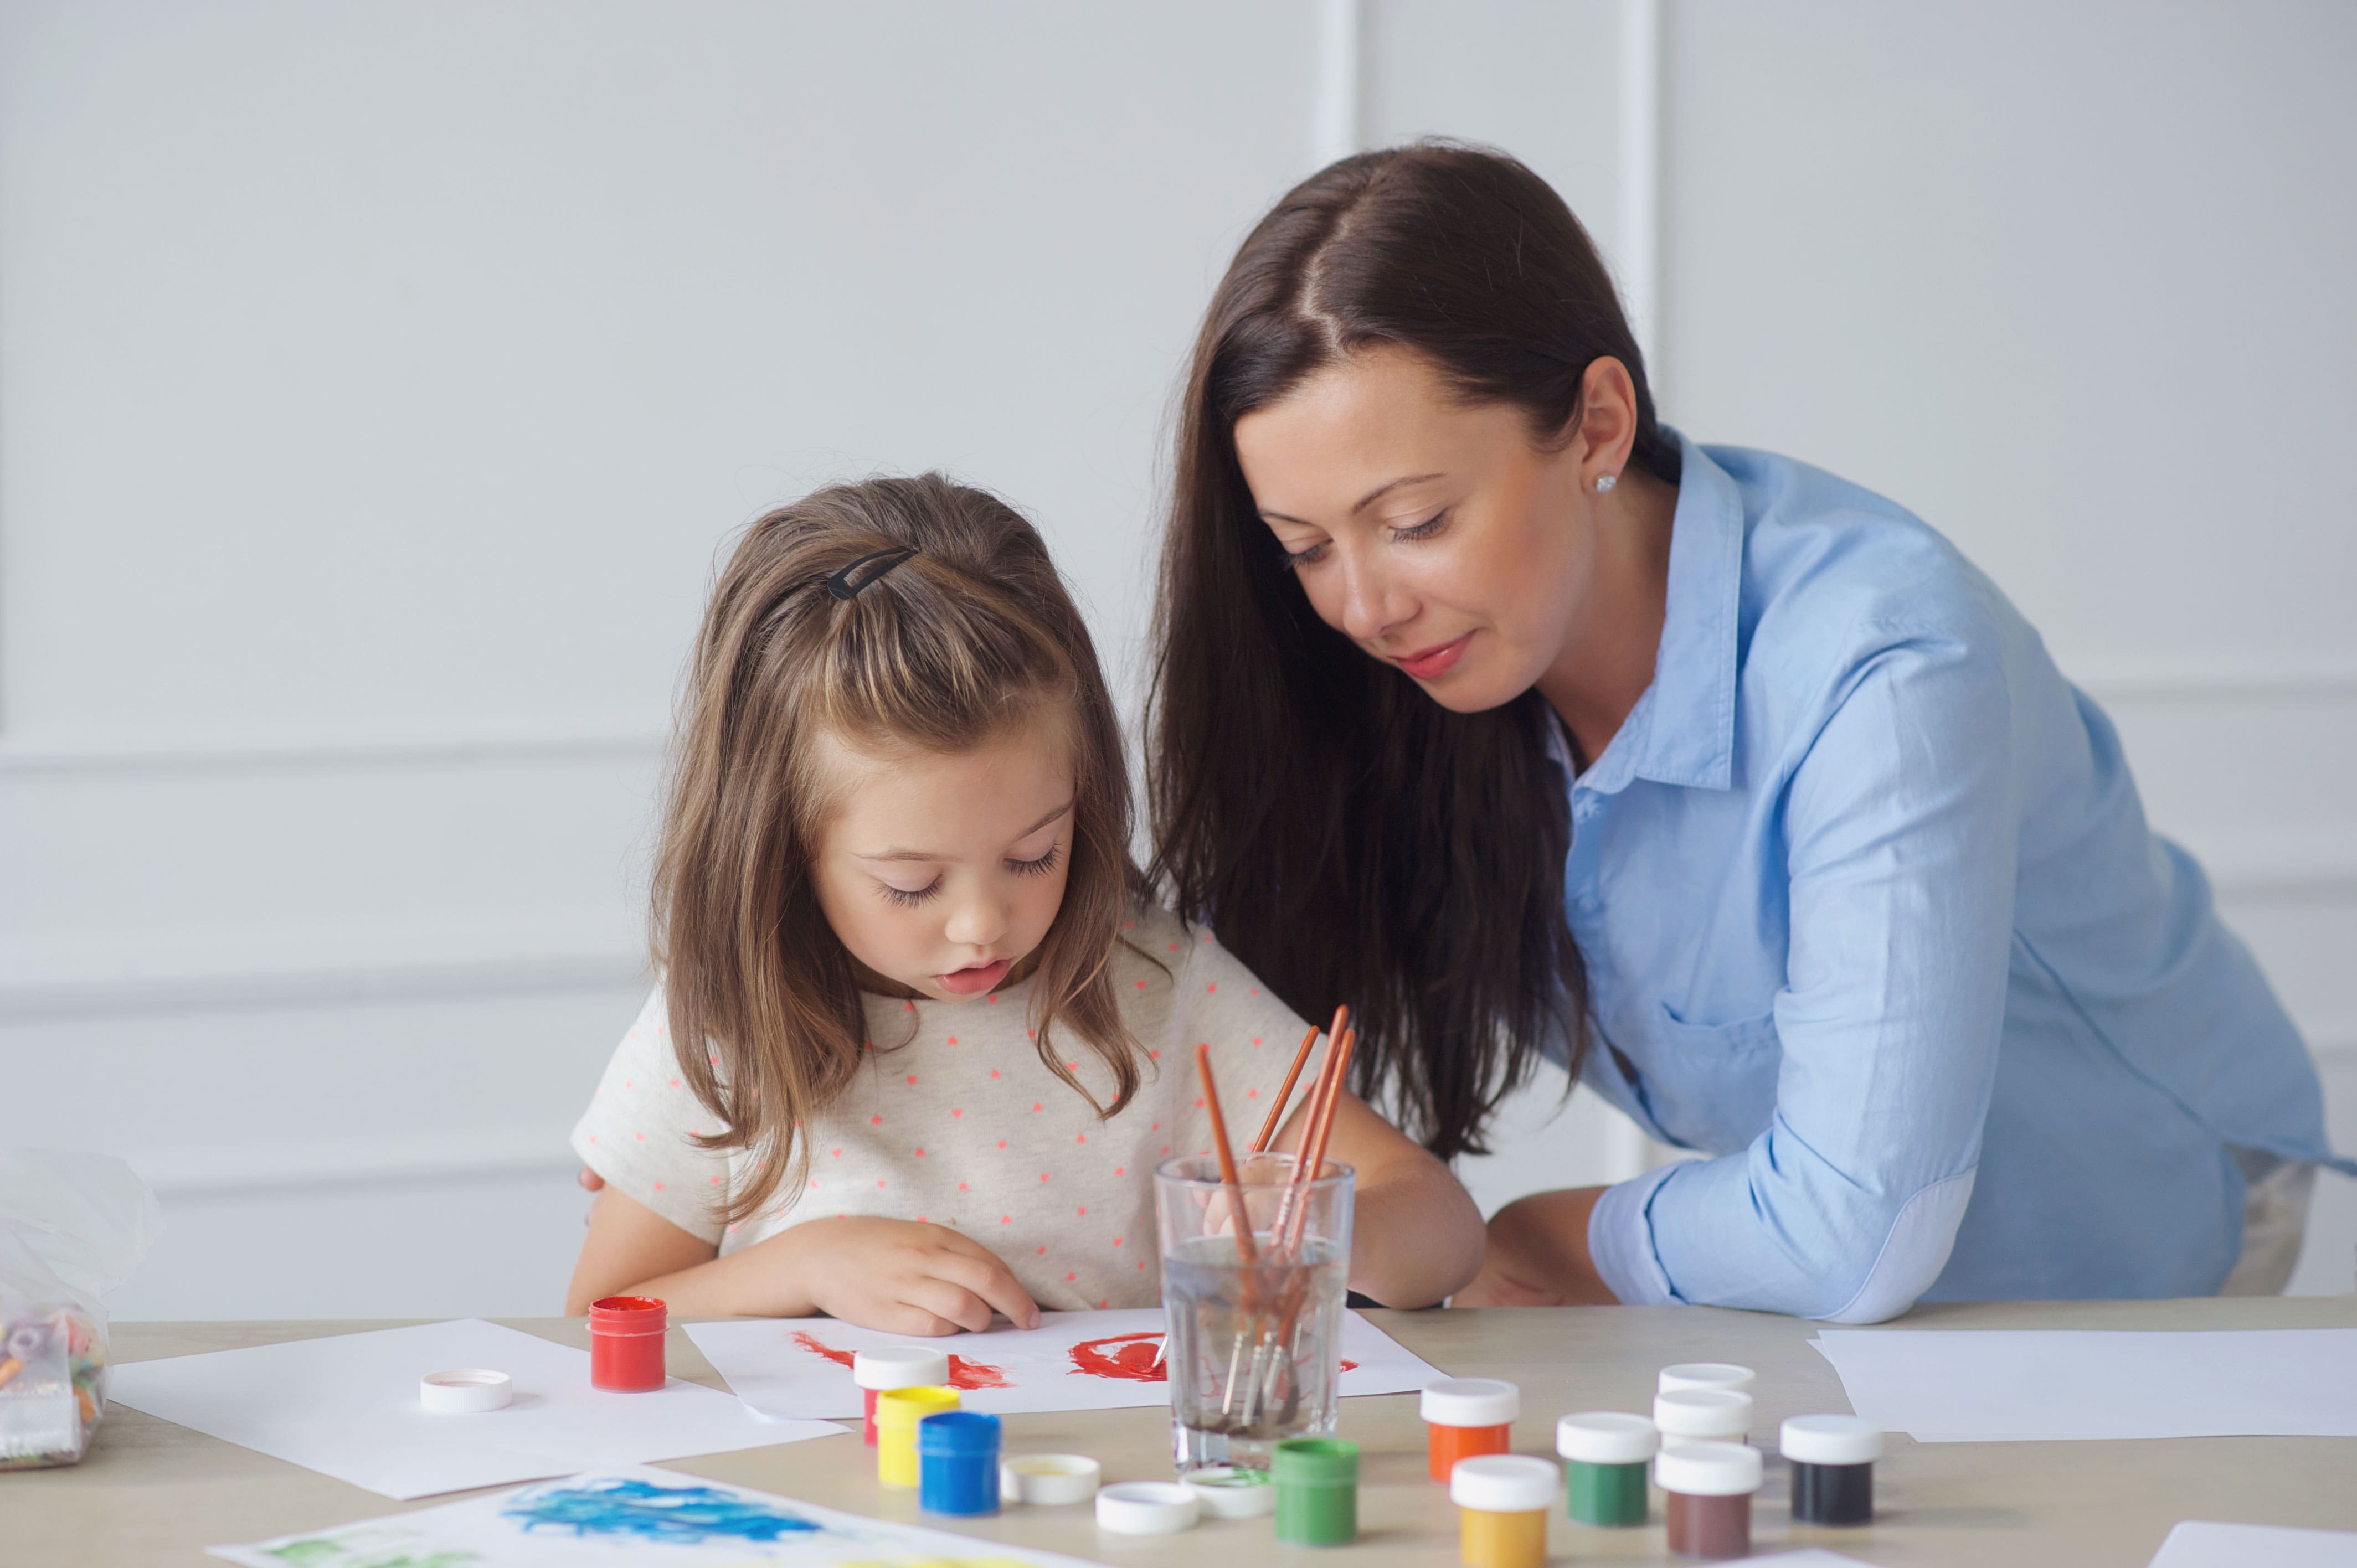
[{"label": "white paper with red paint under the girl's hand", "polygon": [[[1162,1309],[1051,1311],[1039,1327],[997,1325],[983,1335],[907,1339],[851,1327],[834,1318],[738,1318],[691,1323],[695,1349],[754,1410],[780,1417],[858,1419],[860,1391],[851,1384],[851,1353],[879,1344],[924,1344],[948,1351],[950,1382],[966,1410],[1124,1410],[1167,1405],[1169,1379],[1155,1365]],[[1341,1394],[1405,1394],[1440,1377],[1398,1339],[1343,1313]]]}]

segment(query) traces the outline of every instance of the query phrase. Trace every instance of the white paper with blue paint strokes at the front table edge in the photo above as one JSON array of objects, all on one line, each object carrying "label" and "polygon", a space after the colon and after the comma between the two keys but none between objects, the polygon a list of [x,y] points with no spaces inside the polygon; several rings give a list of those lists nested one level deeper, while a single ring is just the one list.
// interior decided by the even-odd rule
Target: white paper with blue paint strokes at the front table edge
[{"label": "white paper with blue paint strokes at the front table edge", "polygon": [[662,1469],[601,1469],[495,1497],[445,1502],[250,1547],[210,1547],[245,1568],[1089,1568],[1077,1556],[839,1514],[811,1502]]}]

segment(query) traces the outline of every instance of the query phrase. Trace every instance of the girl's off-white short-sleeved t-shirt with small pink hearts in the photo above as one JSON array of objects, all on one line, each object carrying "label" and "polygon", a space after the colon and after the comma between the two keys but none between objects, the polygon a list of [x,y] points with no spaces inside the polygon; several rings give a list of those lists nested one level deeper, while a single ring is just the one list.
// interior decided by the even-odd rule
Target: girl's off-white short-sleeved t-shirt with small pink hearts
[{"label": "girl's off-white short-sleeved t-shirt with small pink hearts", "polygon": [[[613,1188],[721,1254],[830,1214],[929,1219],[997,1252],[1044,1309],[1155,1306],[1155,1165],[1211,1148],[1195,1045],[1211,1047],[1228,1137],[1242,1153],[1306,1026],[1202,927],[1146,905],[1122,936],[1113,981],[1143,1059],[1138,1092],[1113,1120],[1098,1120],[1039,1059],[1030,981],[973,1002],[867,995],[867,1061],[841,1099],[804,1122],[806,1184],[724,1224],[721,1205],[750,1155],[691,1141],[719,1122],[681,1087],[658,986],[615,1047],[573,1148]],[[1051,1037],[1080,1082],[1113,1103],[1105,1061],[1070,1026]],[[1303,1068],[1296,1103],[1315,1063]]]}]

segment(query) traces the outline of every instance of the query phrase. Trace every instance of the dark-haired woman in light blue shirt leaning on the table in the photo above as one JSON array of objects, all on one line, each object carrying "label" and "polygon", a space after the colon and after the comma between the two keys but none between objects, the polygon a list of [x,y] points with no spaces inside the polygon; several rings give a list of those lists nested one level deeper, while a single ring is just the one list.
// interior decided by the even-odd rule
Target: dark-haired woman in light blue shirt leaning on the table
[{"label": "dark-haired woman in light blue shirt leaning on the table", "polygon": [[1178,908],[1353,1002],[1435,1153],[1546,1052],[1709,1155],[1508,1205],[1457,1304],[1871,1323],[2296,1261],[2315,1068],[2110,722],[1900,507],[1657,424],[1511,158],[1346,158],[1237,252],[1150,780]]}]

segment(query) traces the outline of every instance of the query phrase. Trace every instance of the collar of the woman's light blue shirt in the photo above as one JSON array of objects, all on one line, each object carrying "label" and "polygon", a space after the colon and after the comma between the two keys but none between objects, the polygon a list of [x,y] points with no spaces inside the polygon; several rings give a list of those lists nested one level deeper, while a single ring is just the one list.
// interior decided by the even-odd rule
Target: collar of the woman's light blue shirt
[{"label": "collar of the woman's light blue shirt", "polygon": [[[1664,434],[1676,431],[1664,427]],[[1631,778],[1725,790],[1735,778],[1735,634],[1744,587],[1744,498],[1735,479],[1678,439],[1678,509],[1652,686],[1579,783],[1600,795]]]}]

